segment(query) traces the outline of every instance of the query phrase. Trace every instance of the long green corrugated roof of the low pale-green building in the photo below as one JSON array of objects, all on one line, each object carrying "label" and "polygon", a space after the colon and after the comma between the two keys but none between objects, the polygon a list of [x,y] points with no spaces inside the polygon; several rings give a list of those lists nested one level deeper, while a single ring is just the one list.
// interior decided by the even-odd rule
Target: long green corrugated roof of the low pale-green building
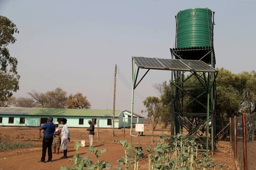
[{"label": "long green corrugated roof of the low pale-green building", "polygon": [[[0,114],[20,114],[38,116],[113,116],[112,110],[90,110],[90,109],[55,109],[55,108],[0,108]],[[120,115],[121,111],[115,111],[115,117]]]}]

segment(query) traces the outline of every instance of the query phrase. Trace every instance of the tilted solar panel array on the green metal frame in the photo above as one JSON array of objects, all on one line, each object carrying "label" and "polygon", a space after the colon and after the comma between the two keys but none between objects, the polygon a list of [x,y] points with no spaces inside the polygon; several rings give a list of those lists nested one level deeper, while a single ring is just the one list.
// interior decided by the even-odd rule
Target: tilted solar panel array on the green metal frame
[{"label": "tilted solar panel array on the green metal frame", "polygon": [[205,71],[216,72],[217,70],[200,60],[185,59],[159,59],[147,57],[132,57],[139,68],[157,70],[179,70],[179,71]]}]

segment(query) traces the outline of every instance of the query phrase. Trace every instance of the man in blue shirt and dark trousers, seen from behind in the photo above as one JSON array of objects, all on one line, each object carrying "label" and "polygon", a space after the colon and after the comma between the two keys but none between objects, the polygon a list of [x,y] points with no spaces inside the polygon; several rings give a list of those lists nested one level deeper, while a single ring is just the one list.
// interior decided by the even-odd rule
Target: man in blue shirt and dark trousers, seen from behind
[{"label": "man in blue shirt and dark trousers, seen from behind", "polygon": [[48,123],[44,124],[39,128],[39,130],[44,129],[44,138],[43,138],[43,147],[42,147],[42,157],[41,160],[38,161],[39,163],[44,163],[46,150],[48,148],[48,161],[52,161],[52,140],[53,140],[53,133],[55,131],[55,125],[52,123],[53,118],[49,117]]}]

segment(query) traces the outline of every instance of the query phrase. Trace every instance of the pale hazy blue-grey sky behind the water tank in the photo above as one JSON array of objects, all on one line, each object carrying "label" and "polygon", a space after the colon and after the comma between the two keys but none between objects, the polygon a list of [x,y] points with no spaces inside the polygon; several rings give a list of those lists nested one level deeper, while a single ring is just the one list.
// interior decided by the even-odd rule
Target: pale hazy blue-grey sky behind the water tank
[{"label": "pale hazy blue-grey sky behind the water tank", "polygon": [[[9,45],[20,75],[14,96],[60,87],[87,96],[91,109],[113,109],[116,64],[115,107],[131,111],[131,57],[171,58],[175,15],[188,8],[215,11],[216,68],[256,70],[256,0],[0,0],[0,15],[20,31]],[[136,89],[135,113],[170,75],[149,71]]]}]

